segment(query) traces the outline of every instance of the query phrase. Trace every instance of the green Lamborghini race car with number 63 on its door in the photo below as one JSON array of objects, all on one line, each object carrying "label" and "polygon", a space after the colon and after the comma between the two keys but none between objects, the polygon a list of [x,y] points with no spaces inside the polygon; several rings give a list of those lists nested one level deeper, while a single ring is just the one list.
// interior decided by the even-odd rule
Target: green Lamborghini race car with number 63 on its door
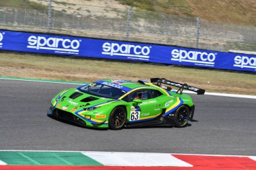
[{"label": "green Lamborghini race car with number 63 on its door", "polygon": [[[172,91],[170,86],[179,87]],[[195,106],[183,89],[205,90],[166,79],[121,81],[106,79],[65,89],[51,101],[49,116],[82,126],[119,130],[130,126],[184,127],[193,119]]]}]

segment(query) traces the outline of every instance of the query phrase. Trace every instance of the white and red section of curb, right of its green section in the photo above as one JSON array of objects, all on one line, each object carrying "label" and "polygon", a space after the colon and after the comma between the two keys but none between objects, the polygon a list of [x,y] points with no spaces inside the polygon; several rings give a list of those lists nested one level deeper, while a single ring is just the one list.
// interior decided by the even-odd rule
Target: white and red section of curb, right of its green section
[{"label": "white and red section of curb, right of its green section", "polygon": [[[256,169],[256,156],[189,155],[169,153],[82,152],[105,166],[148,169]],[[137,167],[137,168],[136,168]],[[112,169],[112,168],[111,168]],[[141,169],[141,168],[138,168]]]}]

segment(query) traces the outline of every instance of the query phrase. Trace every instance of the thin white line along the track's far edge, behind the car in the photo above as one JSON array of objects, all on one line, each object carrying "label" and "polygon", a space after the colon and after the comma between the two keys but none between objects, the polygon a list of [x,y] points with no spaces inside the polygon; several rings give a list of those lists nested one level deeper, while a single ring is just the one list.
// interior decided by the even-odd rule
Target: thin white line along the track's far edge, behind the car
[{"label": "thin white line along the track's far edge, behind the car", "polygon": [[[69,84],[69,85],[84,85],[85,83],[69,83],[69,82],[58,82],[58,81],[40,81],[40,80],[29,80],[29,79],[15,79],[15,78],[3,78],[4,80],[14,80],[14,81],[34,81],[34,82],[42,82],[42,83],[60,83],[60,84]],[[196,94],[192,91],[183,91],[184,93]],[[238,98],[247,98],[247,99],[256,99],[256,95],[237,95],[237,94],[227,94],[227,93],[210,93],[205,92],[205,95],[216,95],[222,97],[238,97]]]}]

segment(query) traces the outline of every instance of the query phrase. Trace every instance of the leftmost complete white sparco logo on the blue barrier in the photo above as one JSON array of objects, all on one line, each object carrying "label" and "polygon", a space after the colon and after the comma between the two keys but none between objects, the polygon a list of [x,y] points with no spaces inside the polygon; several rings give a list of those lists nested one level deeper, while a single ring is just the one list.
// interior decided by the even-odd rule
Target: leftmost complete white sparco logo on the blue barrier
[{"label": "leftmost complete white sparco logo on the blue barrier", "polygon": [[28,48],[36,48],[36,50],[57,50],[63,52],[79,52],[77,48],[80,46],[81,40],[69,40],[63,38],[45,38],[44,36],[30,36],[28,38]]}]

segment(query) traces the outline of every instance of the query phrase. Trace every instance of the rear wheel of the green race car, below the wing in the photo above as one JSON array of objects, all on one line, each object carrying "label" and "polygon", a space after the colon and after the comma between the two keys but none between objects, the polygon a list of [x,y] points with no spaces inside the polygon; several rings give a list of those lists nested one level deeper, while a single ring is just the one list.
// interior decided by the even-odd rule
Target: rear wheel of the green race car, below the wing
[{"label": "rear wheel of the green race car, below the wing", "polygon": [[174,124],[177,128],[182,128],[187,126],[189,122],[190,110],[189,106],[181,105],[174,116]]}]

